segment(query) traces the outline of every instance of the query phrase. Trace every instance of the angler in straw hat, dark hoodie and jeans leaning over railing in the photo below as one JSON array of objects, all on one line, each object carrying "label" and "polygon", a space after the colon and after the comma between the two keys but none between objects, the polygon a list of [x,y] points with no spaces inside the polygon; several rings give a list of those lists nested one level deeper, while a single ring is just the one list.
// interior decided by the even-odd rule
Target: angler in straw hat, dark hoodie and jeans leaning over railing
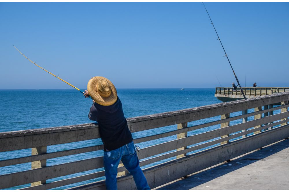
[{"label": "angler in straw hat, dark hoodie and jeans leaning over railing", "polygon": [[84,96],[90,96],[93,99],[88,118],[98,122],[104,146],[103,164],[106,189],[117,190],[117,167],[121,160],[134,177],[137,189],[150,190],[139,166],[135,144],[114,85],[107,78],[97,76],[89,80],[87,90]]}]

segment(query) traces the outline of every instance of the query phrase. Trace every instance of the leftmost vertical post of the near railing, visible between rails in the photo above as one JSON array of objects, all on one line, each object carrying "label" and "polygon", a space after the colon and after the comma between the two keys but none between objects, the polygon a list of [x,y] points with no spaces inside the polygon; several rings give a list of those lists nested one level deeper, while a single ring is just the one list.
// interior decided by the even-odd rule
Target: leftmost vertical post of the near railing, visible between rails
[{"label": "leftmost vertical post of the near railing, visible between rails", "polygon": [[[45,153],[47,153],[47,146],[42,146],[42,147],[32,148],[31,155],[42,155]],[[46,159],[31,162],[31,169],[38,169],[41,167],[46,167]],[[46,180],[36,181],[36,182],[31,183],[31,186],[41,185],[45,183],[46,183]]]}]

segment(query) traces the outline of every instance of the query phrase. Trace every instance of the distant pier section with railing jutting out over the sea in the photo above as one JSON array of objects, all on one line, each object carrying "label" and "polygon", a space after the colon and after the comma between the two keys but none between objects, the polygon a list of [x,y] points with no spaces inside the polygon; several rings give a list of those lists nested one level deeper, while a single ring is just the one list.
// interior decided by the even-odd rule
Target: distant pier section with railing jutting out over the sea
[{"label": "distant pier section with railing jutting out over the sea", "polygon": [[[246,98],[289,92],[289,87],[242,87],[242,89]],[[223,102],[244,99],[239,87],[236,90],[233,87],[216,87],[215,97]]]}]

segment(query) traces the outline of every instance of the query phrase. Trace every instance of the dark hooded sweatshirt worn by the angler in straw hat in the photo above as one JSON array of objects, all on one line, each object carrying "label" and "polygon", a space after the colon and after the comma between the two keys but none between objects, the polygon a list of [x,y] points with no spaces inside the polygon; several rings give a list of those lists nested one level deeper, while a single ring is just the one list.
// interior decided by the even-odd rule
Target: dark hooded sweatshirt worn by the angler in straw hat
[{"label": "dark hooded sweatshirt worn by the angler in straw hat", "polygon": [[93,103],[88,118],[97,121],[104,150],[114,150],[132,141],[131,132],[123,114],[123,105],[118,97],[110,106]]}]

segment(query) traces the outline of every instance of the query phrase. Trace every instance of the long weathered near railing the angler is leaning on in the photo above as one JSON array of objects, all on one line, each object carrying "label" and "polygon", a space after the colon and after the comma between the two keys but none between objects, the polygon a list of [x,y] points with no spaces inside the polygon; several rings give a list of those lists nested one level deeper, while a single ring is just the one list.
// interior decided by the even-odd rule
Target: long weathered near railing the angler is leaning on
[{"label": "long weathered near railing the angler is leaning on", "polygon": [[[252,88],[247,89],[252,91]],[[276,90],[278,91],[278,89]],[[255,93],[255,90],[253,92],[258,94]],[[262,95],[262,91],[259,94]],[[167,160],[143,170],[150,187],[158,187],[288,138],[288,101],[289,93],[279,93],[247,100],[128,118],[127,122],[131,132],[151,131],[148,136],[134,138],[135,143],[148,143],[147,147],[139,149],[140,166],[149,166],[151,163]],[[281,106],[274,107],[272,106],[274,103],[281,103]],[[254,111],[250,112],[250,109]],[[247,112],[249,110],[249,113],[240,115],[244,110],[247,110]],[[217,117],[218,120],[216,118],[212,119],[214,117]],[[155,128],[171,125],[174,126],[174,130],[158,133],[154,131]],[[166,137],[172,139],[159,144],[153,144],[152,142]],[[45,190],[104,176],[104,171],[98,171],[47,182],[51,178],[101,168],[103,167],[103,157],[78,161],[73,161],[73,157],[71,157],[71,162],[49,166],[46,164],[47,159],[103,150],[103,145],[79,147],[51,153],[47,153],[47,146],[53,147],[59,144],[97,138],[100,138],[97,124],[0,133],[0,155],[2,157],[3,154],[9,155],[9,153],[6,153],[9,151],[32,149],[32,155],[30,156],[14,159],[5,156],[5,160],[0,161],[0,167],[29,162],[32,165],[31,170],[10,170],[8,174],[0,173],[0,189],[24,184],[30,185],[31,183],[30,187],[22,189]],[[118,168],[118,189],[136,189],[132,176],[124,171],[125,167]],[[105,182],[101,180],[81,186],[75,184],[74,186],[76,187],[71,189],[100,190],[105,189]]]}]

